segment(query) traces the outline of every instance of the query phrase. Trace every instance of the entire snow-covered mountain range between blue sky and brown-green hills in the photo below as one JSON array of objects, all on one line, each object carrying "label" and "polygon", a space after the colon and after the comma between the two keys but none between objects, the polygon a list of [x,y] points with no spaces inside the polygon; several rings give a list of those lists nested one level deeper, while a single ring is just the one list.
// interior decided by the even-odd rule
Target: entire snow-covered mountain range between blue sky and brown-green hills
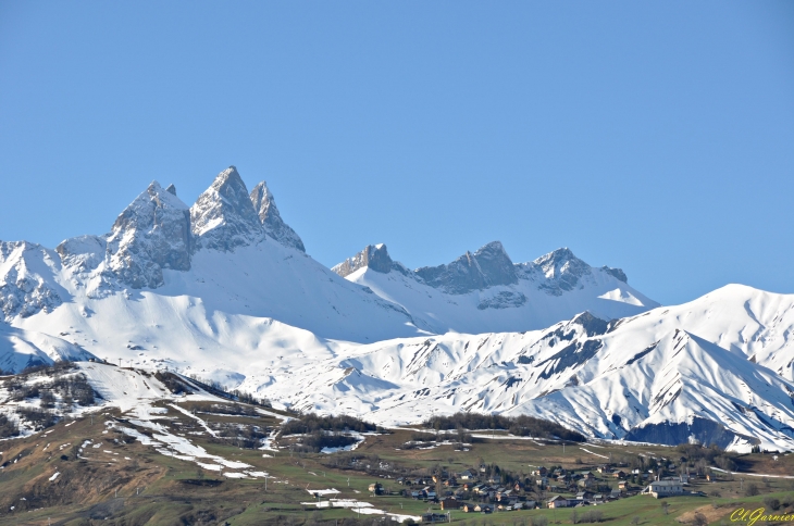
[{"label": "entire snow-covered mountain range between blue sky and brown-green hills", "polygon": [[[0,367],[101,359],[383,426],[528,414],[587,437],[794,450],[794,296],[660,305],[569,249],[491,242],[327,268],[235,167],[188,206],[153,181],[104,235],[0,242]],[[90,377],[89,377],[90,380]]]}]

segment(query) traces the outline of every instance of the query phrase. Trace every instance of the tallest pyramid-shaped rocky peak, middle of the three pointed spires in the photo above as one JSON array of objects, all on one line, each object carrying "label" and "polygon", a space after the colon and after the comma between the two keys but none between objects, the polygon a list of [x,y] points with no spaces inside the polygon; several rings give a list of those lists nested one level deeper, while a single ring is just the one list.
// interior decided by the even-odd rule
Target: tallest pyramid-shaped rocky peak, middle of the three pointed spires
[{"label": "tallest pyramid-shaped rocky peak, middle of the three pointed spires", "polygon": [[265,239],[237,168],[224,170],[190,206],[190,223],[197,247],[232,251]]}]

